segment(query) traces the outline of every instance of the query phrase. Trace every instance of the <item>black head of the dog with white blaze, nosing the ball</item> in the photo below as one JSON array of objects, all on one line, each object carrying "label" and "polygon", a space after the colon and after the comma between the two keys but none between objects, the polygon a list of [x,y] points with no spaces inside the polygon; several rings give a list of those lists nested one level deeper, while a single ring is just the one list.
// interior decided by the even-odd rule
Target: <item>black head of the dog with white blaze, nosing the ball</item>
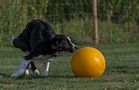
[{"label": "black head of the dog with white blaze, nosing the ball", "polygon": [[68,51],[72,53],[76,51],[78,47],[71,41],[68,36],[56,35],[52,39],[52,49],[57,52]]}]

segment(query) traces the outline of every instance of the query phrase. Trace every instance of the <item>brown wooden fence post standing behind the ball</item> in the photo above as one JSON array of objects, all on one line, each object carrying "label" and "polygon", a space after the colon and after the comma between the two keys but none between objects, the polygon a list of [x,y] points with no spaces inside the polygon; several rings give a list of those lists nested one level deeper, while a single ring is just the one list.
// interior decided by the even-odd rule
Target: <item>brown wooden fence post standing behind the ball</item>
[{"label": "brown wooden fence post standing behind the ball", "polygon": [[97,0],[92,0],[92,14],[93,14],[93,36],[92,39],[95,44],[99,44],[99,36],[98,36],[98,20],[97,20]]}]

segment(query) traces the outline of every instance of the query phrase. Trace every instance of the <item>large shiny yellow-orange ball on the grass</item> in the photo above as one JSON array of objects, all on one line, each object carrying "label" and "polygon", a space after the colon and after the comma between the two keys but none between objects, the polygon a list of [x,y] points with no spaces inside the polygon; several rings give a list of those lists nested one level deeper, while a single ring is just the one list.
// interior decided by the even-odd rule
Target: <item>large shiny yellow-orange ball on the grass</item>
[{"label": "large shiny yellow-orange ball on the grass", "polygon": [[106,67],[103,54],[92,47],[85,47],[75,52],[71,61],[75,77],[100,77]]}]

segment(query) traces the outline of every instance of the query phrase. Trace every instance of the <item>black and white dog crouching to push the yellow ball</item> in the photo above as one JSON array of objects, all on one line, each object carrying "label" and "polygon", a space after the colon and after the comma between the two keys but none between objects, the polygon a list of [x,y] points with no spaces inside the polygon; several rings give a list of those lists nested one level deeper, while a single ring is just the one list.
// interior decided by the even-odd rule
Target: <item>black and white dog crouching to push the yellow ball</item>
[{"label": "black and white dog crouching to push the yellow ball", "polygon": [[23,32],[12,40],[14,47],[28,54],[20,61],[12,77],[20,77],[28,71],[29,64],[33,73],[39,74],[34,59],[40,56],[49,56],[46,62],[45,74],[48,75],[49,64],[52,57],[62,51],[74,52],[77,46],[66,35],[56,34],[52,27],[39,19],[29,22]]}]

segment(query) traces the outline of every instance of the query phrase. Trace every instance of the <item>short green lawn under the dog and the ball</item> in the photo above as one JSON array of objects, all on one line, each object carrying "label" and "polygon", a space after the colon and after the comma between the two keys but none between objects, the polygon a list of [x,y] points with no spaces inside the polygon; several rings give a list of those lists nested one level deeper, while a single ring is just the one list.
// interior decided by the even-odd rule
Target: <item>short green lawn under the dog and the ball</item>
[{"label": "short green lawn under the dog and the ball", "polygon": [[[91,45],[84,45],[91,46]],[[0,90],[138,90],[139,43],[95,46],[103,52],[107,66],[101,78],[75,78],[72,54],[55,58],[49,77],[10,77],[24,54],[15,48],[0,48]],[[42,71],[43,64],[38,63]]]}]

